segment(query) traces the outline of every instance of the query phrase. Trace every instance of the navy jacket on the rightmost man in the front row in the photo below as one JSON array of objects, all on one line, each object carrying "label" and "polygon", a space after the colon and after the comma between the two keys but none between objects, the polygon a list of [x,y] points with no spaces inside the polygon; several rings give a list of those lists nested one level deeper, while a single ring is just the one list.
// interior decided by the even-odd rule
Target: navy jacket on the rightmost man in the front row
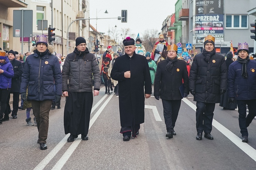
[{"label": "navy jacket on the rightmost man in the front row", "polygon": [[230,64],[228,69],[228,96],[237,100],[256,99],[256,61],[246,64],[248,78],[242,77],[242,64],[238,61]]}]

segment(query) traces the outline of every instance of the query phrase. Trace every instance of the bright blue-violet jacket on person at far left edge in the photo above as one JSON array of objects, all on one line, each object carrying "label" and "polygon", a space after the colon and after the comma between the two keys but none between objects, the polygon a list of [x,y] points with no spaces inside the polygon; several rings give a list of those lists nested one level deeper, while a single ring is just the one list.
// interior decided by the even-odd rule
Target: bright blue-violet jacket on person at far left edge
[{"label": "bright blue-violet jacket on person at far left edge", "polygon": [[0,74],[0,88],[11,88],[14,72],[7,56],[5,56],[5,64],[0,63],[0,69],[4,70],[3,73]]}]

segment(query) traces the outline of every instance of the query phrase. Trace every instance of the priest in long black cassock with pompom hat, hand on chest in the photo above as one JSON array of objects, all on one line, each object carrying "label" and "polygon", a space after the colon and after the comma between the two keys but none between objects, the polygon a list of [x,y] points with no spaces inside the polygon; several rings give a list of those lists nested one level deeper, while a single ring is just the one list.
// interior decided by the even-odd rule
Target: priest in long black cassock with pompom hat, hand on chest
[{"label": "priest in long black cassock with pompom hat, hand on chest", "polygon": [[111,78],[118,81],[120,133],[124,141],[130,140],[131,134],[139,134],[140,124],[144,123],[145,98],[152,93],[146,57],[134,52],[134,43],[130,37],[123,41],[125,54],[116,58],[111,71]]}]

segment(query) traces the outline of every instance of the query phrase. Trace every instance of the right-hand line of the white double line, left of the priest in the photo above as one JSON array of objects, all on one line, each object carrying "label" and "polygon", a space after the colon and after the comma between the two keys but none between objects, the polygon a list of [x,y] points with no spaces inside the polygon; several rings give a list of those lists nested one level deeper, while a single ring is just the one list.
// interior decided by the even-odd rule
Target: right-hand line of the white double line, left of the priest
[{"label": "right-hand line of the white double line, left of the priest", "polygon": [[[114,93],[112,92],[112,94],[110,95],[110,97],[103,103],[103,105],[100,107],[100,109],[96,112],[96,114],[93,116],[93,118],[91,118],[90,120],[90,124],[89,124],[89,129],[91,128],[91,126],[93,125],[93,123],[95,122],[95,120],[99,117],[100,113],[103,111],[104,107],[109,103],[110,99],[114,96]],[[62,157],[58,160],[58,162],[55,164],[55,166],[52,168],[52,170],[60,170],[65,163],[67,162],[67,160],[69,159],[69,157],[71,156],[71,154],[74,152],[74,150],[76,149],[76,147],[79,145],[79,143],[81,142],[81,135],[79,135],[77,137],[77,139],[71,144],[71,146],[67,149],[67,151],[62,155]]]}]

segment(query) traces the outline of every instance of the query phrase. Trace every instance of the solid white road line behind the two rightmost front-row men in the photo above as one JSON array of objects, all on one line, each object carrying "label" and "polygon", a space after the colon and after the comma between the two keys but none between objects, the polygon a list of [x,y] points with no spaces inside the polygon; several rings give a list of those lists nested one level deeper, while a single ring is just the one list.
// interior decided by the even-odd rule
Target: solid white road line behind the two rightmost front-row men
[{"label": "solid white road line behind the two rightmost front-row men", "polygon": [[[182,99],[188,106],[190,106],[194,111],[196,111],[196,105],[190,102],[188,99]],[[231,142],[238,146],[244,153],[250,156],[253,160],[256,161],[256,150],[248,145],[247,143],[242,142],[242,140],[230,130],[225,128],[221,123],[217,122],[215,119],[212,121],[212,125],[223,135],[225,135]]]}]

